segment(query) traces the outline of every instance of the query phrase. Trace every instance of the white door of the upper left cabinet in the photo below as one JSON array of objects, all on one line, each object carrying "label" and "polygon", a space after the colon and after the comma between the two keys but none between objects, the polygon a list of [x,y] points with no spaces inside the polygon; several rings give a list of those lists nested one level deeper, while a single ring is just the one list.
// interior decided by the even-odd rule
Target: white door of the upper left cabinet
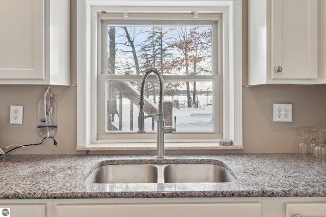
[{"label": "white door of the upper left cabinet", "polygon": [[0,79],[44,79],[44,1],[0,1]]}]

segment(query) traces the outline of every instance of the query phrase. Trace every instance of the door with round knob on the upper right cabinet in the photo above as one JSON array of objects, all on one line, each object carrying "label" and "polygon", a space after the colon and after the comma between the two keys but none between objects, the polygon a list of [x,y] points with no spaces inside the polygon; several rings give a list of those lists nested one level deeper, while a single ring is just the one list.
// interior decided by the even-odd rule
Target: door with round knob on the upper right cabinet
[{"label": "door with round knob on the upper right cabinet", "polygon": [[318,79],[318,1],[272,0],[271,29],[271,79]]}]

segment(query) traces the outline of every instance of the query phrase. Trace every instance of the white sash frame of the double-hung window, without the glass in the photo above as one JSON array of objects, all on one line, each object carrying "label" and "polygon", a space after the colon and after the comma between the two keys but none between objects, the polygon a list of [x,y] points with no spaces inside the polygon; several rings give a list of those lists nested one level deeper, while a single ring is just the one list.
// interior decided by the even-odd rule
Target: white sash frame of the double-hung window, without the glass
[{"label": "white sash frame of the double-hung window, without the glass", "polygon": [[[106,127],[106,118],[105,114],[107,114],[107,105],[105,103],[106,94],[103,91],[105,89],[105,81],[106,80],[118,80],[118,81],[130,81],[130,80],[136,80],[141,81],[142,75],[111,75],[107,74],[107,43],[103,43],[107,41],[107,31],[104,30],[107,27],[107,23],[124,23],[128,25],[135,25],[136,23],[139,24],[141,20],[149,19],[151,20],[151,25],[158,25],[158,23],[161,22],[162,19],[166,19],[166,17],[169,17],[169,20],[164,20],[165,25],[173,26],[175,24],[174,20],[178,20],[178,25],[189,25],[191,23],[192,25],[211,25],[212,26],[212,32],[214,35],[214,38],[212,39],[212,44],[215,45],[212,47],[212,59],[214,60],[214,63],[212,64],[212,74],[211,75],[165,75],[163,74],[163,80],[164,82],[169,81],[211,81],[212,86],[214,89],[214,95],[213,95],[213,108],[215,111],[213,111],[213,120],[214,120],[214,129],[213,131],[204,131],[204,132],[198,132],[198,131],[188,131],[188,132],[180,132],[177,129],[177,133],[173,134],[166,134],[165,135],[165,142],[215,142],[217,143],[222,138],[222,102],[220,102],[220,99],[222,99],[222,79],[220,79],[220,75],[222,74],[222,16],[221,14],[200,14],[200,18],[194,18],[194,15],[191,13],[187,14],[180,14],[180,13],[165,13],[165,14],[155,14],[150,15],[148,13],[141,14],[141,13],[129,13],[128,18],[123,18],[123,14],[110,14],[110,13],[104,13],[103,15],[99,15],[99,18],[101,19],[101,35],[102,38],[101,43],[97,45],[98,47],[98,56],[101,56],[101,64],[99,65],[101,69],[98,68],[97,73],[101,73],[100,75],[100,110],[98,115],[98,123],[100,125],[100,130],[98,129],[97,132],[97,140],[100,140],[102,143],[113,143],[113,142],[119,142],[119,143],[138,143],[139,140],[146,141],[146,142],[155,142],[156,141],[156,135],[155,131],[149,131],[146,134],[137,134],[135,131],[111,131],[106,133],[105,127]],[[134,19],[132,17],[137,17],[137,19]],[[155,23],[153,19],[159,20]],[[114,22],[116,20],[116,22]],[[172,21],[170,21],[172,20]],[[194,21],[195,22],[194,22]],[[191,22],[189,22],[191,21]],[[219,24],[220,23],[220,24]],[[143,24],[141,24],[143,25]],[[145,25],[145,24],[144,24]],[[97,33],[100,35],[99,33]],[[103,45],[104,44],[104,45]],[[217,46],[216,46],[217,45]],[[157,80],[156,76],[149,76],[148,80],[150,78],[154,77],[154,80]],[[221,105],[221,106],[220,106]],[[138,114],[138,113],[137,113]],[[178,120],[180,120],[177,117]],[[177,121],[178,122],[178,121]],[[123,134],[123,136],[121,136]],[[151,134],[151,135],[150,135]]]}]

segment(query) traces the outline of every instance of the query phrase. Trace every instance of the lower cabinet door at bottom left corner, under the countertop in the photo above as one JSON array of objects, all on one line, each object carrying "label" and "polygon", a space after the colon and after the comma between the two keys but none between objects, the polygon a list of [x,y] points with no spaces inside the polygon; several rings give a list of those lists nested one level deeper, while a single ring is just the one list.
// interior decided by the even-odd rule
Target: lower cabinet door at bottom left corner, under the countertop
[{"label": "lower cabinet door at bottom left corner, under the countertop", "polygon": [[2,214],[2,216],[12,217],[45,217],[45,208],[45,204],[0,204],[0,211],[10,210],[10,212],[3,212],[7,215]]}]

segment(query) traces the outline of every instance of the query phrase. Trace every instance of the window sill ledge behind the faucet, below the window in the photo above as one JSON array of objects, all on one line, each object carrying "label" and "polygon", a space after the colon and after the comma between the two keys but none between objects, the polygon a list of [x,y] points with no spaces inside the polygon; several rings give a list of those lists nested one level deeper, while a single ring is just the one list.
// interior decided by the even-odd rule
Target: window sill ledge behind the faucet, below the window
[{"label": "window sill ledge behind the faucet, below the window", "polygon": [[[241,150],[242,145],[222,146],[219,143],[165,143],[166,150]],[[88,146],[78,146],[80,151],[104,151],[104,150],[156,150],[156,143],[93,143]]]}]

